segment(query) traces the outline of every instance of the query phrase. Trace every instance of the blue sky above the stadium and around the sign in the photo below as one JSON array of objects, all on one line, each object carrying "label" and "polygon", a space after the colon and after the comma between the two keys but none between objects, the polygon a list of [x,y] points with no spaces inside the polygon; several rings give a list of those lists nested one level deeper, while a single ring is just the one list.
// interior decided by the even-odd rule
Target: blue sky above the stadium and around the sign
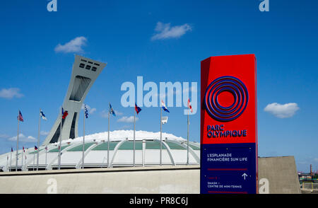
[{"label": "blue sky above the stadium and around the sign", "polygon": [[[118,121],[133,113],[120,103],[124,81],[136,83],[143,76],[144,83],[194,81],[199,87],[201,60],[255,54],[259,156],[292,155],[299,171],[307,172],[310,163],[318,169],[318,3],[269,1],[267,12],[259,11],[258,0],[57,0],[56,12],[47,11],[45,0],[2,2],[0,154],[16,148],[11,137],[17,134],[19,109],[25,119],[20,146],[35,145],[39,108],[48,118],[41,130],[49,132],[69,85],[73,54],[107,62],[86,97],[96,109],[86,134],[107,131],[102,111],[109,102],[122,112],[112,118],[111,128],[132,128]],[[158,23],[161,30],[155,30]],[[56,50],[76,37],[85,38],[77,52]],[[170,108],[163,131],[187,137],[183,110]],[[159,117],[159,108],[143,108],[136,129],[158,132]],[[190,119],[191,140],[199,141],[199,111]]]}]

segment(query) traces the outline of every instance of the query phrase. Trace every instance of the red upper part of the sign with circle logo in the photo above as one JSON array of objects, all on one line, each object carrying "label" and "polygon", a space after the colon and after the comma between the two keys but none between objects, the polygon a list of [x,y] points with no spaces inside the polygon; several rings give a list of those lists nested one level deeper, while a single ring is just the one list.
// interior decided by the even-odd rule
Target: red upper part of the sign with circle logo
[{"label": "red upper part of the sign with circle logo", "polygon": [[201,144],[257,143],[254,54],[201,62]]}]

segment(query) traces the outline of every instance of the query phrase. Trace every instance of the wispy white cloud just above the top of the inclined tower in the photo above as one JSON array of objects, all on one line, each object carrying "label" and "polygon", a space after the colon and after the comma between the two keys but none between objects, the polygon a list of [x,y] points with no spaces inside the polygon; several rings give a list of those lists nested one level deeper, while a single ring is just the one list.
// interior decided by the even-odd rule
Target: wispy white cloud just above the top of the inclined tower
[{"label": "wispy white cloud just above the top of the inclined tower", "polygon": [[64,52],[64,53],[70,53],[70,52],[78,52],[82,53],[84,52],[82,47],[86,45],[87,39],[86,37],[75,37],[70,42],[66,42],[64,45],[57,45],[57,47],[54,48],[55,52]]}]

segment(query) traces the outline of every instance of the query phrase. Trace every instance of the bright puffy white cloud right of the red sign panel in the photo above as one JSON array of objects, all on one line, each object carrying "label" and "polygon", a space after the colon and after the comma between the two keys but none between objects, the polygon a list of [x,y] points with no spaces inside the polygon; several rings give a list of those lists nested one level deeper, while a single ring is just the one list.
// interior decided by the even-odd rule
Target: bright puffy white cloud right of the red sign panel
[{"label": "bright puffy white cloud right of the red sign panel", "polygon": [[295,112],[299,110],[297,103],[270,103],[264,108],[264,111],[270,112],[279,118],[292,117],[295,115]]}]

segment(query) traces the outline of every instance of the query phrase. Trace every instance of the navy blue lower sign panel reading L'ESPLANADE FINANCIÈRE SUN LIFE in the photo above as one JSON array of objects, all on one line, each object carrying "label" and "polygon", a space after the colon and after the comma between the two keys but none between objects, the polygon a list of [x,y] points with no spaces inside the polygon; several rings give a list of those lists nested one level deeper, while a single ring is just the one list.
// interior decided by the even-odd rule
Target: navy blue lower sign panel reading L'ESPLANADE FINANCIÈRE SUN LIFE
[{"label": "navy blue lower sign panel reading L'ESPLANADE FINANCI\u00c8RE SUN LIFE", "polygon": [[256,194],[256,144],[202,144],[201,193]]}]

